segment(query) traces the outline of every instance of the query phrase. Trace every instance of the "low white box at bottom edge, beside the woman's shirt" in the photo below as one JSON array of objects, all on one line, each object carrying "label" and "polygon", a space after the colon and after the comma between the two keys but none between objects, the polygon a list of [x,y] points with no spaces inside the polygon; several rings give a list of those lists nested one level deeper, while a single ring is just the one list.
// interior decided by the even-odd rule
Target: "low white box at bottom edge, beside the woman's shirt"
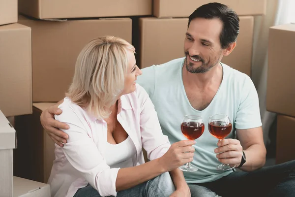
[{"label": "low white box at bottom edge, beside the woman's shirt", "polygon": [[13,197],[50,197],[50,186],[14,176]]}]

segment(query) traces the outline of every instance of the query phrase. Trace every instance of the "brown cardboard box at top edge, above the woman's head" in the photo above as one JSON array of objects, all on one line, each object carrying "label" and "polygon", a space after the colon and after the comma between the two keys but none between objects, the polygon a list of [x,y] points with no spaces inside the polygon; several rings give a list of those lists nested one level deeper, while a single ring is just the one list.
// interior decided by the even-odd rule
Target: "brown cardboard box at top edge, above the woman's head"
[{"label": "brown cardboard box at top edge, above the woman's head", "polygon": [[143,16],[152,0],[19,0],[19,11],[39,19]]}]

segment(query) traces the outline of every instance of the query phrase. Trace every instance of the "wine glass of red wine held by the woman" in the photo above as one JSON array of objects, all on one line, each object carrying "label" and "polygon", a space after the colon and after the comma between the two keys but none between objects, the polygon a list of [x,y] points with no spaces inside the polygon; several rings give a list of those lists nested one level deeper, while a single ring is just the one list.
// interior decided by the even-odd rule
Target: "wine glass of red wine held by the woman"
[{"label": "wine glass of red wine held by the woman", "polygon": [[[200,116],[187,115],[181,122],[181,132],[187,139],[190,140],[199,138],[203,134],[204,129],[205,125]],[[180,166],[179,169],[187,172],[194,172],[198,170],[198,168],[192,166],[190,162]]]}]

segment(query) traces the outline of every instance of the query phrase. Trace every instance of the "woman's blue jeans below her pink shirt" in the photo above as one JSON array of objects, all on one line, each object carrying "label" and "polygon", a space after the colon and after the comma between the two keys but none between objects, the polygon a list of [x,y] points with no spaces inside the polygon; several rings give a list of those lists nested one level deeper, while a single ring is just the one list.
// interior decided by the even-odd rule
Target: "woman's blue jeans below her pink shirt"
[{"label": "woman's blue jeans below her pink shirt", "polygon": [[[119,191],[117,197],[169,197],[174,191],[175,187],[170,174],[166,172],[133,188]],[[88,185],[80,188],[74,197],[101,196],[91,185]]]}]

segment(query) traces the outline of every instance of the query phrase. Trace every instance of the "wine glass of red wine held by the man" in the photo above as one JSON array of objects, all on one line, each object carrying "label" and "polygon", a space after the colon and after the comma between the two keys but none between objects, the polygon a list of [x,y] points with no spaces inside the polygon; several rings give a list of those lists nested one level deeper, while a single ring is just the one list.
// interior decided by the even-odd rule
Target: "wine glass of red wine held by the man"
[{"label": "wine glass of red wine held by the man", "polygon": [[[230,134],[232,131],[232,123],[230,118],[226,114],[216,114],[210,116],[208,122],[208,129],[209,132],[219,139],[218,141],[222,141],[226,136]],[[220,170],[230,170],[233,169],[235,166],[230,166],[230,164],[219,164],[216,166],[217,169]]]}]

